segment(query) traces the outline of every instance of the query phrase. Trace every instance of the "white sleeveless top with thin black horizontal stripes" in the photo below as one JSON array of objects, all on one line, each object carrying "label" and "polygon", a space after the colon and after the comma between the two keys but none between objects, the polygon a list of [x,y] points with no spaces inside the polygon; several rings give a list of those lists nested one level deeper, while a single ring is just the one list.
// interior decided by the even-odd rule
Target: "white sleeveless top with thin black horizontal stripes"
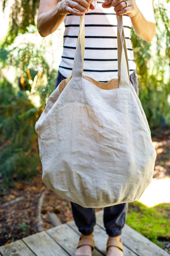
[{"label": "white sleeveless top with thin black horizontal stripes", "polygon": [[[94,1],[95,10],[85,14],[85,76],[97,81],[109,81],[117,77],[117,20],[114,8],[102,8],[103,1]],[[67,15],[64,24],[64,44],[60,73],[71,76],[79,32],[79,17]],[[129,74],[136,69],[130,39],[131,20],[123,15],[123,27],[129,60]]]}]

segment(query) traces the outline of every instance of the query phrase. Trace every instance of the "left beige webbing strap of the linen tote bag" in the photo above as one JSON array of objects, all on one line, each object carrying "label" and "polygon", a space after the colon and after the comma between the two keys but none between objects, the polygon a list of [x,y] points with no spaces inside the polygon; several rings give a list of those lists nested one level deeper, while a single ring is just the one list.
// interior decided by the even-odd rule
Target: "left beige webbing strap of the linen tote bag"
[{"label": "left beige webbing strap of the linen tote bag", "polygon": [[72,77],[83,76],[83,64],[85,54],[85,15],[80,17],[80,30],[78,34],[76,53],[74,56],[74,63],[72,69]]}]

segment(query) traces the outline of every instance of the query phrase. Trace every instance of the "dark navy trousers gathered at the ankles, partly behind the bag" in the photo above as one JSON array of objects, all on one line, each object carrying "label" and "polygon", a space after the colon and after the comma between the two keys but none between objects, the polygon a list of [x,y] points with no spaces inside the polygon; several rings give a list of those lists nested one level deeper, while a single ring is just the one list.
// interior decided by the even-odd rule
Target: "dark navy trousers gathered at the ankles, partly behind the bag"
[{"label": "dark navy trousers gathered at the ankles, partly behind the bag", "polygon": [[[62,76],[58,72],[55,88],[60,84],[60,82],[66,77]],[[136,70],[130,75],[130,82],[132,83],[137,95],[139,93],[139,83]],[[84,208],[79,204],[72,203],[72,213],[74,221],[78,227],[78,230],[84,235],[90,235],[93,232],[94,225],[96,224],[95,209],[94,208]],[[128,212],[128,204],[117,204],[104,208],[104,226],[106,232],[109,236],[119,236],[121,235],[122,228],[126,221],[126,216]]]}]

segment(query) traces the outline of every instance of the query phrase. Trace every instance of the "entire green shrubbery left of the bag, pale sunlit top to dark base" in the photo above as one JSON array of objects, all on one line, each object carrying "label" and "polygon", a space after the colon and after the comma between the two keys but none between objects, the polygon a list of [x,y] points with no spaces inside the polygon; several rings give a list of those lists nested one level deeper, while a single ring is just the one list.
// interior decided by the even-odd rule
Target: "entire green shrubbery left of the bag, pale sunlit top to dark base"
[{"label": "entire green shrubbery left of the bag, pale sunlit top to dark base", "polygon": [[[29,180],[36,174],[40,158],[34,127],[54,90],[57,75],[45,57],[46,40],[41,39],[32,26],[28,30],[0,50],[3,77],[0,82],[0,178],[3,186],[12,186],[13,180]],[[13,84],[8,82],[11,68],[16,75]]]}]

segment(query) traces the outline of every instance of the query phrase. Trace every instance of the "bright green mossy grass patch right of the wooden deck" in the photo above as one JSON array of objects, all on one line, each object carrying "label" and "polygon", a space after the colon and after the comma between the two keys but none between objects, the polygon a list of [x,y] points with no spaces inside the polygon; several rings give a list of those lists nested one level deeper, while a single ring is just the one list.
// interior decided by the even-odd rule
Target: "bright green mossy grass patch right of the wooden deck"
[{"label": "bright green mossy grass patch right of the wooden deck", "polygon": [[129,203],[126,224],[163,248],[159,236],[170,238],[169,229],[170,204],[159,204],[148,208],[137,201]]}]

